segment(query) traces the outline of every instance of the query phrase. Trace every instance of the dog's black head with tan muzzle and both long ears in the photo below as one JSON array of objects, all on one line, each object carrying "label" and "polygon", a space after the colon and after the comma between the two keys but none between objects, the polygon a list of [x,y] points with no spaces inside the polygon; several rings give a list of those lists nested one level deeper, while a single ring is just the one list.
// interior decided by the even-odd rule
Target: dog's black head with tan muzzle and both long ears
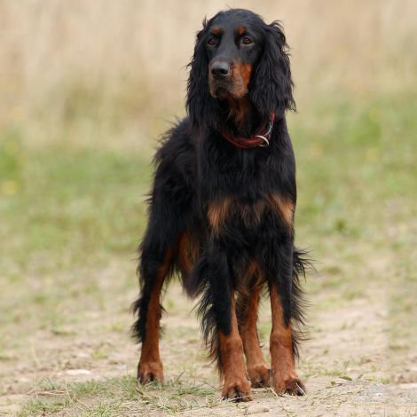
[{"label": "dog's black head with tan muzzle and both long ears", "polygon": [[295,108],[285,35],[279,22],[267,25],[254,12],[231,9],[204,20],[190,67],[194,124],[214,118],[224,100],[249,98],[261,117]]}]

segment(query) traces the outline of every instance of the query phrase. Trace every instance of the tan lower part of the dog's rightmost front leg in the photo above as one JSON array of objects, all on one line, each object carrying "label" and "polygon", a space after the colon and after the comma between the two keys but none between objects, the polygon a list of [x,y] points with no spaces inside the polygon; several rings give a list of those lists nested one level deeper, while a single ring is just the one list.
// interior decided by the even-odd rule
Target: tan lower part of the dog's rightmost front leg
[{"label": "tan lower part of the dog's rightmost front leg", "polygon": [[295,372],[295,358],[291,326],[284,323],[284,315],[279,294],[275,285],[271,284],[271,385],[277,394],[303,395],[303,382]]}]

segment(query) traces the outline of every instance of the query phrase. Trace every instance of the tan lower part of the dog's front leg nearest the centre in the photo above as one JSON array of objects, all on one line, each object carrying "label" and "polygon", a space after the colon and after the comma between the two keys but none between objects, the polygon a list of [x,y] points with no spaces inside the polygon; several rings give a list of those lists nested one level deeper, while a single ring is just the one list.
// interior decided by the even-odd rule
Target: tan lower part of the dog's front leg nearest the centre
[{"label": "tan lower part of the dog's front leg nearest the centre", "polygon": [[250,401],[250,388],[246,376],[243,346],[236,319],[234,296],[232,296],[232,329],[230,334],[218,334],[220,371],[224,375],[222,397],[235,401]]}]

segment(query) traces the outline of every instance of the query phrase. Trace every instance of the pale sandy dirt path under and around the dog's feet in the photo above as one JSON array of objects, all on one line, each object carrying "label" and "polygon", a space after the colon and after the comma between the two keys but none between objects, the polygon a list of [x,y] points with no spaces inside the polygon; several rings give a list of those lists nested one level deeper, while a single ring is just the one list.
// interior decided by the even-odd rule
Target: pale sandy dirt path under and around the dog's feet
[{"label": "pale sandy dirt path under and around the dog's feet", "polygon": [[[139,402],[126,405],[127,410],[153,416],[417,415],[417,352],[395,358],[392,351],[389,353],[386,292],[373,284],[358,300],[340,308],[320,309],[330,293],[312,300],[311,340],[304,342],[299,364],[308,389],[306,397],[276,397],[268,389],[256,389],[254,402],[232,405],[219,402],[218,392],[193,401],[172,395],[164,398],[162,389],[155,395],[149,391],[146,395],[151,400],[141,403],[139,398]],[[125,301],[123,298],[115,303],[126,305]],[[260,328],[267,340],[264,334],[268,333],[270,316],[264,304]],[[217,387],[216,375],[201,350],[197,320],[189,312],[193,304],[178,287],[171,287],[165,305],[168,313],[163,320],[166,332],[161,355],[167,381],[173,384],[167,391],[172,394],[173,380],[181,381],[179,385]],[[84,315],[82,329],[67,326],[61,334],[45,330],[28,337],[25,350],[1,361],[0,415],[16,415],[29,398],[59,396],[59,384],[134,375],[137,351],[125,330],[130,324],[126,312],[114,315],[114,311],[90,311]],[[109,323],[106,331],[101,327],[103,321]],[[267,353],[267,346],[264,350]],[[106,400],[106,392],[87,396],[81,404],[98,398]],[[164,401],[177,408],[164,409]],[[26,415],[96,415],[83,414],[79,407],[75,401],[56,413],[43,410]],[[102,415],[125,415],[124,408],[120,410],[120,414]]]}]

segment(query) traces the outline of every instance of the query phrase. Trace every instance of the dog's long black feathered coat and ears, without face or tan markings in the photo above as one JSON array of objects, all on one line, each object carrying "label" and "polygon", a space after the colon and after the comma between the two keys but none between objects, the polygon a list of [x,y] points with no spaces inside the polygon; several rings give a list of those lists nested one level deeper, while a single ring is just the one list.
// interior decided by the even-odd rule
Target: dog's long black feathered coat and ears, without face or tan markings
[{"label": "dog's long black feathered coat and ears, without face or tan markings", "polygon": [[[223,14],[222,14],[223,13]],[[227,103],[209,93],[209,56],[205,48],[209,28],[219,16],[241,16],[263,36],[263,52],[248,86],[255,130],[275,114],[271,145],[240,150],[224,140],[221,130],[235,131]],[[231,18],[232,19],[232,18]],[[256,260],[264,271],[258,285],[277,286],[284,319],[293,327],[293,351],[303,338],[304,302],[301,278],[309,265],[307,254],[294,247],[294,224],[290,229],[268,203],[271,195],[296,202],[295,158],[287,132],[285,114],[295,110],[286,37],[278,21],[264,23],[258,15],[241,9],[220,12],[204,20],[197,34],[187,83],[187,117],[161,143],[156,155],[149,224],[139,248],[141,297],[134,304],[138,320],[133,326],[138,340],[146,337],[146,309],[158,268],[169,250],[169,273],[178,271],[187,293],[200,297],[198,313],[209,356],[221,371],[218,332],[231,328],[231,294],[236,291],[238,316],[248,287],[240,282],[241,271]],[[221,231],[213,232],[208,210],[213,204],[233,199]],[[266,201],[260,204],[259,201]],[[198,260],[193,270],[184,267],[181,240],[193,234]]]}]

